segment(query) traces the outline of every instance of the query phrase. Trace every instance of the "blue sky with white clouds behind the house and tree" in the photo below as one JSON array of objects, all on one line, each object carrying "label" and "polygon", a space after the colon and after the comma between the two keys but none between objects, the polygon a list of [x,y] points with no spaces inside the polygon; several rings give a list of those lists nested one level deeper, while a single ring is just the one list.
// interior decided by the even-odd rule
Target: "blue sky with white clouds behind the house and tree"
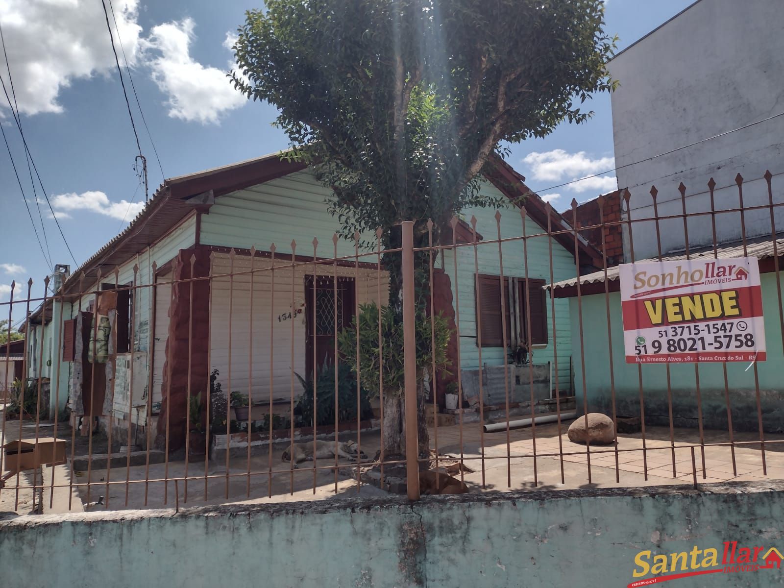
[{"label": "blue sky with white clouds behind the house and tree", "polygon": [[[260,2],[113,3],[163,169],[162,173],[126,78],[142,151],[148,160],[151,194],[163,177],[238,162],[287,146],[285,136],[270,126],[274,108],[247,102],[234,93],[224,75],[232,59],[230,35],[243,21],[245,9]],[[619,35],[622,49],[690,3],[608,0],[607,31]],[[125,227],[144,198],[132,169],[136,143],[100,0],[0,0],[0,24],[27,145],[65,238],[76,261],[82,263]],[[123,64],[122,53],[120,60]],[[0,77],[10,93],[4,63],[0,63]],[[529,187],[550,198],[559,210],[567,208],[572,198],[586,200],[615,187],[611,173],[543,190],[612,169],[609,96],[597,96],[591,108],[596,115],[584,125],[563,124],[544,139],[512,147],[510,163],[527,177]],[[42,234],[43,224],[47,256],[52,263],[70,263],[74,268],[45,202],[38,204],[43,219],[38,217],[24,148],[2,94],[0,124],[9,139],[38,234]],[[40,187],[36,189],[40,198]],[[24,282],[29,277],[36,282],[34,295],[40,296],[49,263],[34,237],[3,143],[0,194],[5,241],[0,254],[0,301],[8,299],[12,280]]]}]

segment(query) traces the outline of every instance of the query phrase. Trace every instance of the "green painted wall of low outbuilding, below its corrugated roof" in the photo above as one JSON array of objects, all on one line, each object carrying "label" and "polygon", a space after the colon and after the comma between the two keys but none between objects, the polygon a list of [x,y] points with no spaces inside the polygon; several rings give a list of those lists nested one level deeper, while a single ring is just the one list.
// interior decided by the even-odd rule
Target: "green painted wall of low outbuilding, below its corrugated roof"
[{"label": "green painted wall of low outbuilding, below its corrugated roof", "polygon": [[[784,372],[782,372],[782,334],[779,324],[779,297],[775,274],[762,274],[762,305],[765,315],[765,341],[768,360],[757,363],[760,406],[764,428],[784,430]],[[784,280],[782,280],[784,282]],[[579,319],[576,298],[570,298],[572,340],[575,342],[575,390],[578,400],[583,394],[583,365],[580,359]],[[623,332],[620,293],[610,294],[612,321],[612,374],[615,376],[616,405],[619,412],[640,413],[640,386],[637,365],[626,364],[623,353]],[[583,296],[583,333],[585,352],[586,394],[589,410],[610,414],[610,353],[607,336],[607,311],[604,294]],[[757,400],[754,369],[748,363],[727,364],[728,388],[735,430],[757,430]],[[666,403],[667,378],[665,365],[643,365],[646,421],[669,423]],[[727,403],[724,394],[724,371],[720,363],[699,365],[703,423],[706,428],[727,428]],[[670,388],[676,426],[697,426],[696,379],[694,364],[670,365]],[[578,402],[578,405],[581,403]]]}]

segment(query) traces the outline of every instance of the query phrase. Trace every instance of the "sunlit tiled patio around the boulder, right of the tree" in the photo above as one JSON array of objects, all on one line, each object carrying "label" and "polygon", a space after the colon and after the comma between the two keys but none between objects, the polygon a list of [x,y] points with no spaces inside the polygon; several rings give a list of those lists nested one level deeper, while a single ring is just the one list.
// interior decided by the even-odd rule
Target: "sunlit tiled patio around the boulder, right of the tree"
[{"label": "sunlit tiled patio around the boulder, right of the tree", "polygon": [[[478,425],[463,427],[463,456],[466,466],[475,470],[466,474],[466,484],[481,488],[482,459],[481,442],[485,446],[485,489],[506,490],[534,488],[567,489],[624,486],[653,486],[693,483],[691,449],[678,448],[678,445],[699,444],[699,432],[692,429],[673,430],[676,449],[670,445],[670,429],[662,426],[648,426],[643,440],[641,434],[619,434],[618,456],[613,445],[593,445],[590,448],[590,482],[585,445],[569,441],[566,430],[568,424],[561,424],[559,444],[557,423],[536,426],[536,476],[534,477],[534,440],[531,428],[510,431],[510,458],[507,459],[506,431],[485,433]],[[706,430],[706,444],[729,441],[727,431]],[[784,435],[766,434],[766,441],[781,441]],[[430,443],[434,445],[433,430]],[[732,466],[730,446],[711,446],[704,448],[705,473],[702,472],[702,451],[695,448],[695,466],[699,484],[724,481],[753,481],[767,478],[784,478],[784,444],[766,444],[767,478],[763,475],[762,454],[757,433],[735,433],[735,474]],[[757,441],[746,445],[748,441]],[[558,456],[559,445],[566,455]],[[438,429],[438,451],[449,456],[460,455],[459,427],[440,427]],[[675,475],[673,476],[673,453]],[[546,454],[543,456],[543,454]],[[555,455],[551,455],[555,454]],[[507,473],[507,463],[510,472]],[[563,481],[561,481],[563,463]],[[647,470],[647,479],[646,479]],[[617,472],[617,477],[616,477]]]}]

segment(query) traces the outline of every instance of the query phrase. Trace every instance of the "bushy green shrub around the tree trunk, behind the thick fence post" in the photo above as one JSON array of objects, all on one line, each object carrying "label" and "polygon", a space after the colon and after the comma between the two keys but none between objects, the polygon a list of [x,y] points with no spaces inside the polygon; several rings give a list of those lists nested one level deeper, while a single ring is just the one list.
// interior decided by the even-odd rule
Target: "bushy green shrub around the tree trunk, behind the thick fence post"
[{"label": "bushy green shrub around the tree trunk, behind the thick fence post", "polygon": [[[447,347],[452,331],[447,320],[439,313],[432,318],[419,313],[416,317],[416,371],[422,379],[424,370],[430,370],[435,361],[437,370],[445,370],[450,362]],[[340,353],[353,369],[357,365],[357,321],[343,330],[338,337]],[[400,394],[403,388],[403,319],[392,307],[381,308],[381,338],[379,345],[379,307],[376,303],[361,304],[359,309],[359,370],[361,382],[375,392],[379,390],[379,358],[383,364],[384,395]]]}]

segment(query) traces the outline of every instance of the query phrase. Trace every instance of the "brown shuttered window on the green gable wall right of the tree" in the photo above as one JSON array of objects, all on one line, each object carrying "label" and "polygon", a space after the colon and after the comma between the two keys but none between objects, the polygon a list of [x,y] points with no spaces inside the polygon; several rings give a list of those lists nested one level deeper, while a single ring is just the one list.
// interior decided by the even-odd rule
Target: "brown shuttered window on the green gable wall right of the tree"
[{"label": "brown shuttered window on the green gable wall right of the tree", "polygon": [[[499,276],[477,275],[475,303],[477,320],[481,321],[482,347],[503,347],[503,319],[506,321],[506,344],[528,340],[528,322],[531,344],[547,343],[547,296],[544,280],[528,278],[528,297],[525,278],[503,278],[503,307]],[[528,299],[529,308],[525,303]],[[511,303],[510,303],[511,300]],[[512,328],[514,325],[514,330]],[[479,338],[477,337],[477,345]]]}]

